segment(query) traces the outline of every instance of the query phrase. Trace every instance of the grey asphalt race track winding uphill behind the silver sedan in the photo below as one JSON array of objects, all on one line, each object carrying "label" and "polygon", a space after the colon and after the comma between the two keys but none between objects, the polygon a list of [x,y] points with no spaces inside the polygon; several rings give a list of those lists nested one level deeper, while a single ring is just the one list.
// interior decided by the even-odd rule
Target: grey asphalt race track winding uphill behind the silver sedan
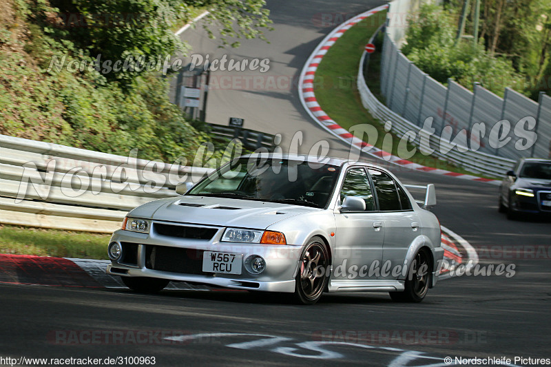
[{"label": "grey asphalt race track winding uphill behind the silver sedan", "polygon": [[[315,45],[338,25],[322,26],[313,21],[316,14],[357,14],[381,4],[269,1],[275,23],[268,34],[271,43],[243,41],[236,50],[219,49],[200,28],[183,36],[193,52],[209,53],[211,59],[225,53],[269,57],[267,74],[298,80]],[[304,112],[295,87],[211,90],[207,120],[227,124],[230,116],[245,118],[251,129],[282,133],[283,146],[301,130],[302,152],[325,139],[332,155],[348,154],[344,143]],[[468,240],[481,264],[515,264],[514,276],[445,280],[421,304],[393,303],[383,293],[351,293],[325,295],[314,306],[242,291],[151,296],[125,289],[0,284],[0,356],[17,358],[17,363],[20,357],[155,357],[156,366],[395,367],[446,366],[445,357],[453,358],[452,365],[455,357],[508,357],[519,366],[530,361],[514,363],[514,357],[550,358],[550,222],[508,221],[497,212],[497,187],[484,182],[395,172],[404,182],[435,183],[434,212],[441,224]]]}]

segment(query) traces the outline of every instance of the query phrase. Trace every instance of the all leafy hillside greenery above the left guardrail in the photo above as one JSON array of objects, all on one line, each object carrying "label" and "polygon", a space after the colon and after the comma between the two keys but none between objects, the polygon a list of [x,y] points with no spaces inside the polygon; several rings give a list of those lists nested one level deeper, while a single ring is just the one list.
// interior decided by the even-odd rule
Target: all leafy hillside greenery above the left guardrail
[{"label": "all leafy hillside greenery above the left guardrail", "polygon": [[[8,15],[9,21],[0,21],[0,134],[120,155],[137,148],[139,158],[169,162],[182,157],[192,162],[200,145],[211,142],[207,133],[189,125],[178,107],[169,103],[169,78],[152,72],[101,74],[93,67],[48,70],[52,60],[77,64],[90,61],[95,52],[103,60],[127,54],[150,58],[170,54],[182,43],[169,27],[200,6],[233,7],[233,19],[245,28],[222,32],[228,35],[261,36],[260,30],[252,28],[268,22],[261,0],[244,4],[226,0],[52,1],[57,8],[46,0],[10,2],[16,19]],[[67,23],[59,24],[65,12],[83,13],[92,23],[94,14],[132,14],[127,19],[138,23],[66,28]],[[222,25],[229,27],[229,23]],[[196,127],[208,132],[204,126]],[[213,158],[220,162],[222,151]]]}]

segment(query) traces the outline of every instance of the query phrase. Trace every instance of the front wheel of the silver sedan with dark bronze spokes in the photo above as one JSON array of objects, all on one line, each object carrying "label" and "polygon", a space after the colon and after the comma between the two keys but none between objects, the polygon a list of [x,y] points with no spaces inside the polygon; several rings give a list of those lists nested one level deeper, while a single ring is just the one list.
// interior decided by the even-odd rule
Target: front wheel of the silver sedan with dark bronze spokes
[{"label": "front wheel of the silver sedan with dark bronze spokes", "polygon": [[315,304],[329,282],[329,251],[323,240],[313,237],[300,255],[300,268],[295,279],[295,299],[300,304]]}]

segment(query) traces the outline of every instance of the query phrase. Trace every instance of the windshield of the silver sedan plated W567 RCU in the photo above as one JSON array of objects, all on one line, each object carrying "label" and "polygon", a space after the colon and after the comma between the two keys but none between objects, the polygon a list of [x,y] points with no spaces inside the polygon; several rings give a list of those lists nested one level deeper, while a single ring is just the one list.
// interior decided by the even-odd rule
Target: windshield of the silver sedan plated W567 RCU
[{"label": "windshield of the silver sedan plated W567 RCU", "polygon": [[340,168],[287,159],[239,158],[186,195],[282,202],[324,208]]}]

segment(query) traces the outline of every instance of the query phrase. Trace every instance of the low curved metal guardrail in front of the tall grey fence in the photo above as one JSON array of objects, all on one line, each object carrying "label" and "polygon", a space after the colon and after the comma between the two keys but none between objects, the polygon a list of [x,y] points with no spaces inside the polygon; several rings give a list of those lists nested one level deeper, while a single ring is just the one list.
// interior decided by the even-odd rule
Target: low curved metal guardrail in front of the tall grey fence
[{"label": "low curved metal guardrail in front of the tall grey fence", "polygon": [[[373,34],[369,43],[373,42],[376,35],[377,32]],[[410,122],[410,120],[403,118],[399,114],[393,112],[390,108],[386,107],[386,105],[380,102],[373,95],[371,90],[369,90],[364,77],[364,61],[366,59],[366,54],[367,53],[364,52],[362,55],[357,74],[357,88],[360,92],[360,98],[364,107],[368,109],[369,112],[371,112],[371,114],[376,118],[379,118],[382,121],[391,121],[391,131],[395,134],[400,134],[403,136],[406,132],[413,130],[414,132],[418,132],[418,135],[430,135],[429,132],[422,130],[418,125]],[[514,160],[512,159],[493,156],[481,151],[472,151],[467,147],[462,147],[461,145],[457,145],[455,149],[452,149],[454,145],[436,135],[430,135],[428,145],[426,145],[426,139],[420,139],[419,144],[419,147],[424,149],[433,147],[433,149],[435,149],[433,155],[436,155],[443,160],[453,162],[456,165],[459,165],[459,167],[464,167],[465,169],[477,174],[503,176],[503,174],[505,174],[509,169],[512,169],[514,165]],[[441,153],[441,151],[446,151],[446,154]]]}]

